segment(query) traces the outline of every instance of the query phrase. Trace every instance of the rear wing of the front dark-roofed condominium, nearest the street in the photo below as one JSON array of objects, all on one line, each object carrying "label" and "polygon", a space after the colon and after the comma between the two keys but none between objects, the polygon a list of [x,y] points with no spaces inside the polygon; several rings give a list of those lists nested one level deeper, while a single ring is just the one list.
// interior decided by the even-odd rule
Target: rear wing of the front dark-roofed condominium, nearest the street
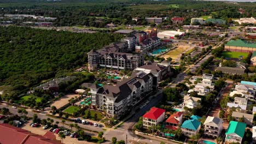
[{"label": "rear wing of the front dark-roofed condominium, nearest the street", "polygon": [[152,73],[154,76],[158,77],[159,81],[167,79],[168,76],[171,76],[173,74],[169,61],[162,61],[161,63],[147,61],[145,63],[146,64],[142,65],[141,67],[136,68],[135,71]]}]

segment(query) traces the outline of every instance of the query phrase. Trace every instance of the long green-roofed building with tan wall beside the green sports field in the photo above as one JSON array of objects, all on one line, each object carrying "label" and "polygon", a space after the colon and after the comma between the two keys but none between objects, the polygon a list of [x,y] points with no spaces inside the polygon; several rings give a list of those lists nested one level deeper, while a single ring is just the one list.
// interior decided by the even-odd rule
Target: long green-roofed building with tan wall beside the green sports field
[{"label": "long green-roofed building with tan wall beside the green sports field", "polygon": [[225,44],[225,51],[254,52],[256,43],[249,43],[245,40],[230,40]]}]

